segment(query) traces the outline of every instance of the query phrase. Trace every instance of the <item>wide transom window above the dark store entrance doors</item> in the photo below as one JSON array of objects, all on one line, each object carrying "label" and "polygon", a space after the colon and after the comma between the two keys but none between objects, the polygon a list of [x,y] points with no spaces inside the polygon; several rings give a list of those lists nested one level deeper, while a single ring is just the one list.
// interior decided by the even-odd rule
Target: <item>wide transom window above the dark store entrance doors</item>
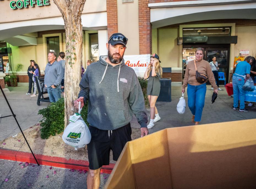
[{"label": "wide transom window above the dark store entrance doors", "polygon": [[199,36],[230,36],[230,28],[183,28],[183,37]]}]

